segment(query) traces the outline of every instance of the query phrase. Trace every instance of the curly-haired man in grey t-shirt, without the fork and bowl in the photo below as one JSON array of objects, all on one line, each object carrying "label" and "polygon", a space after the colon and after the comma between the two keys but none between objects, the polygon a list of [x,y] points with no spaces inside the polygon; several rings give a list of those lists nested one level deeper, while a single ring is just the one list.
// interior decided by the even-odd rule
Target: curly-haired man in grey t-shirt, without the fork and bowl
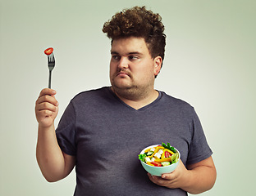
[{"label": "curly-haired man in grey t-shirt, without the fork and bowl", "polygon": [[[164,59],[163,30],[161,17],[145,7],[106,22],[112,86],[75,96],[56,131],[56,91],[40,92],[37,160],[46,180],[61,180],[75,167],[75,195],[179,196],[213,187],[213,153],[194,108],[154,89]],[[181,162],[172,173],[147,176],[138,154],[162,142],[179,149]]]}]

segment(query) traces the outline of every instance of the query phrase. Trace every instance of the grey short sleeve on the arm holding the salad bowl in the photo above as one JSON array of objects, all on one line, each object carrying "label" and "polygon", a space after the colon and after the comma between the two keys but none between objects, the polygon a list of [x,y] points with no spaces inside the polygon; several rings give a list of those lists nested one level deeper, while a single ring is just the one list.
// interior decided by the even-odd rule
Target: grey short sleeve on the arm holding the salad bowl
[{"label": "grey short sleeve on the arm holding the salad bowl", "polygon": [[194,164],[209,158],[213,154],[210,149],[206,136],[203,133],[203,127],[198,115],[194,111],[194,117],[191,124],[191,144],[186,164]]}]

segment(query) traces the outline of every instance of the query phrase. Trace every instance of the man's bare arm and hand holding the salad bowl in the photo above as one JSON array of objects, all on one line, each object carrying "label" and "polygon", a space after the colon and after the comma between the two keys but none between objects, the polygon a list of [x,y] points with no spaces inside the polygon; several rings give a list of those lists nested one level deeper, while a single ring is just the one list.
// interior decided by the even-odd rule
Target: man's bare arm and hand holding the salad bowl
[{"label": "man's bare arm and hand holding the salad bowl", "polygon": [[187,168],[180,161],[172,173],[162,174],[162,177],[149,174],[149,179],[157,185],[171,189],[181,188],[190,194],[200,194],[213,188],[216,176],[213,158],[209,157],[199,163],[191,164]]}]

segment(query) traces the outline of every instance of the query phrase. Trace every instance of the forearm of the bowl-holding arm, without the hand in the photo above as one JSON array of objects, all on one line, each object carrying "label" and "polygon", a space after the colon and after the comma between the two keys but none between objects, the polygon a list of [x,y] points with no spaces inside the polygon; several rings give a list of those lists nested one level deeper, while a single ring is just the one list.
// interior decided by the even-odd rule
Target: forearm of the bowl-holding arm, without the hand
[{"label": "forearm of the bowl-holding arm, without the hand", "polygon": [[190,194],[200,194],[213,188],[216,180],[215,167],[200,166],[187,171],[185,183],[181,189]]}]

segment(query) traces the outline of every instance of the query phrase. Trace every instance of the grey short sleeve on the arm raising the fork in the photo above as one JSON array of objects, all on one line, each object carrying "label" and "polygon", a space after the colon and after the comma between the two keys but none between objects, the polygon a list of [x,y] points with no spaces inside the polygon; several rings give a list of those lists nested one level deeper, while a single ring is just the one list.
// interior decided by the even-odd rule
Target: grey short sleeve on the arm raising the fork
[{"label": "grey short sleeve on the arm raising the fork", "polygon": [[75,156],[75,109],[70,102],[56,129],[57,142],[65,154]]}]

